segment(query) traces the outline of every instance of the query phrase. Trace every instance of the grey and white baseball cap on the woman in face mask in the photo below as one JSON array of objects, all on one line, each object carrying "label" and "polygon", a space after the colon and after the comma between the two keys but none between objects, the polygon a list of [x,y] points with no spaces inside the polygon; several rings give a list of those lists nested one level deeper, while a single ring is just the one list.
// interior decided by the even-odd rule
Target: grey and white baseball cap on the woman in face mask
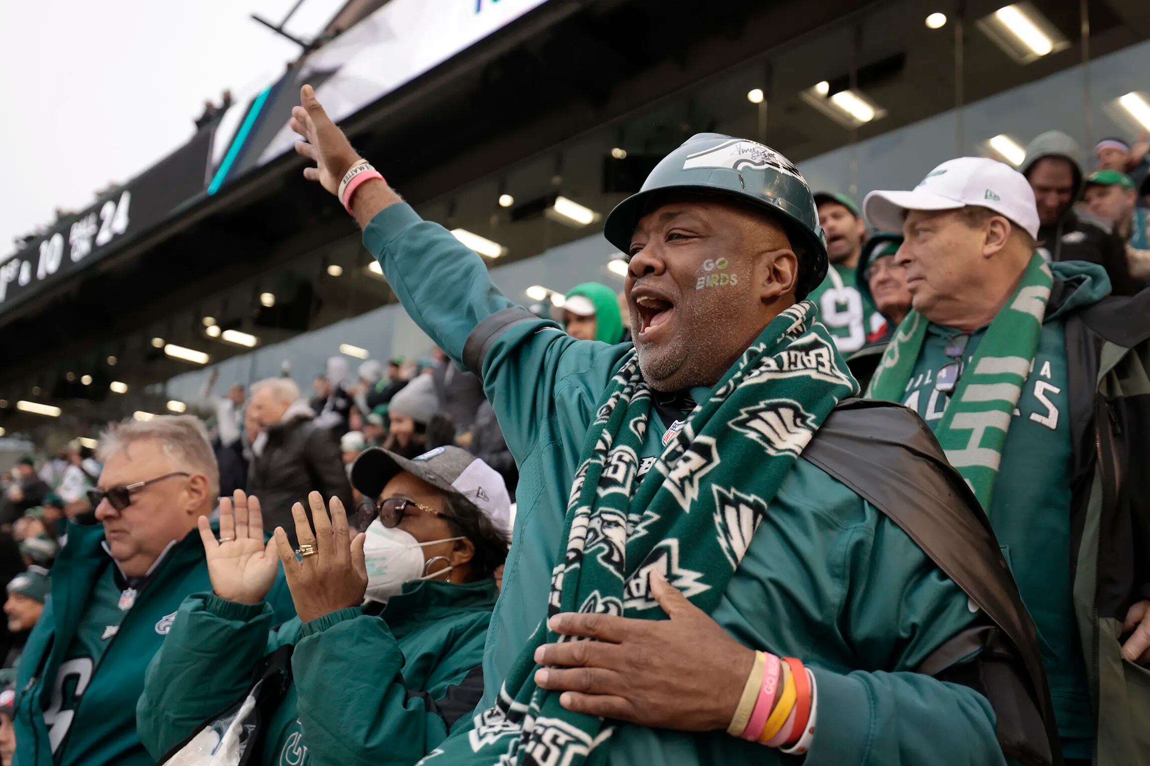
[{"label": "grey and white baseball cap on the woman in face mask", "polygon": [[496,529],[511,534],[511,497],[503,477],[459,447],[436,447],[411,459],[373,447],[352,463],[352,486],[375,500],[397,473],[405,471],[432,487],[475,503]]}]

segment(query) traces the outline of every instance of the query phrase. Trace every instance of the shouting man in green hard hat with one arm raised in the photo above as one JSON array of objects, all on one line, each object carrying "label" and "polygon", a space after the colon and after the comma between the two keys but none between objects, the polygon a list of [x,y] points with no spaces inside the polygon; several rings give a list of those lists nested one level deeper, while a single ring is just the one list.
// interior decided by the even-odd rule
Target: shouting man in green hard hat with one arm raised
[{"label": "shouting man in green hard hat with one arm raised", "polygon": [[607,346],[514,307],[301,96],[305,177],[482,378],[521,469],[484,702],[424,763],[1004,763],[988,698],[930,675],[979,676],[981,643],[952,642],[977,608],[798,459],[857,384],[799,301],[827,256],[795,165],[715,134],[664,158],[607,219],[635,338]]}]

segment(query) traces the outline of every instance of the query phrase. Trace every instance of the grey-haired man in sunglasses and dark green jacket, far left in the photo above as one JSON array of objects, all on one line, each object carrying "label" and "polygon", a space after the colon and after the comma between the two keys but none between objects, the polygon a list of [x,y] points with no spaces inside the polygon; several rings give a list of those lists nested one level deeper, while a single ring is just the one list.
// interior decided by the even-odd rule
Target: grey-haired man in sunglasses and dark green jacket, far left
[{"label": "grey-haired man in sunglasses and dark green jacket, far left", "polygon": [[[208,589],[197,523],[218,471],[202,424],[163,416],[113,425],[89,493],[94,526],[70,524],[52,598],[24,648],[17,683],[22,766],[154,764],[136,732],[144,671],[184,597]],[[293,614],[282,577],[268,596]]]}]

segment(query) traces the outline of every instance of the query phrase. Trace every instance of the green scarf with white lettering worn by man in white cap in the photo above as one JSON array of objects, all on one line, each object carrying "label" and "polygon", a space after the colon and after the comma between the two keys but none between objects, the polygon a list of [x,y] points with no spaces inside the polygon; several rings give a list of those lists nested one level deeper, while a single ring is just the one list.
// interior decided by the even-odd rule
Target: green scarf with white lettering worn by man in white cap
[{"label": "green scarf with white lettering worn by man in white cap", "polygon": [[[1006,431],[1030,374],[1052,285],[1050,266],[1035,253],[1018,289],[965,365],[935,428],[946,458],[966,479],[983,510],[990,510]],[[879,362],[867,396],[899,401],[922,351],[928,324],[918,311],[906,315]]]}]

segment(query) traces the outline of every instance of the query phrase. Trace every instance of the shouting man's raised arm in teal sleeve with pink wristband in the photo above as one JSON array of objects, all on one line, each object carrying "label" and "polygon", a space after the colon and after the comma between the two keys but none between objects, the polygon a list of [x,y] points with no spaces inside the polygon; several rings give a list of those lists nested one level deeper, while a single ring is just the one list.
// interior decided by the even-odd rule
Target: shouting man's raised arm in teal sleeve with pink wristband
[{"label": "shouting man's raised arm in teal sleeve with pink wristband", "polygon": [[[296,150],[316,163],[304,177],[337,194],[340,180],[362,158],[310,86],[302,87],[300,101],[291,126],[306,141],[297,142]],[[382,178],[362,180],[344,196],[363,229],[365,246],[407,314],[457,364],[483,380],[518,461],[561,409],[560,396],[574,402],[565,417],[590,421],[627,346],[576,341],[553,322],[514,305],[491,284],[478,255],[443,226],[420,218]]]}]

